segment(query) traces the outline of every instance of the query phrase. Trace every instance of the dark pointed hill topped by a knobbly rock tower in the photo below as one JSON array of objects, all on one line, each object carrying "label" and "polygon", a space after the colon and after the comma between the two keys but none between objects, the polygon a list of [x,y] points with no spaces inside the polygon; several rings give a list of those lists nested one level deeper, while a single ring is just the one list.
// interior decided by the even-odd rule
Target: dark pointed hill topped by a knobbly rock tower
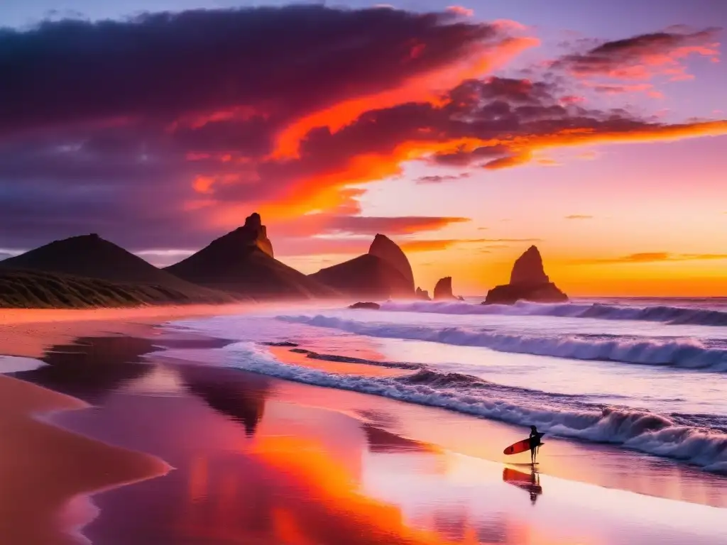
[{"label": "dark pointed hill topped by a knobbly rock tower", "polygon": [[249,216],[242,227],[217,238],[166,270],[190,282],[254,299],[312,299],[340,295],[275,259],[273,244],[257,213]]}]

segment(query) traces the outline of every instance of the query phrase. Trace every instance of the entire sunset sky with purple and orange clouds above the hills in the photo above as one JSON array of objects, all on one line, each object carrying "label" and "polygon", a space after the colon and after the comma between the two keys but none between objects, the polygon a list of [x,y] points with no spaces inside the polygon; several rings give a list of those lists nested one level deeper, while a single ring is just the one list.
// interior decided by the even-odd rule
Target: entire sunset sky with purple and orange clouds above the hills
[{"label": "entire sunset sky with purple and orange clouds above the hills", "polygon": [[727,296],[727,2],[0,3],[0,257],[169,265],[262,215],[304,273]]}]

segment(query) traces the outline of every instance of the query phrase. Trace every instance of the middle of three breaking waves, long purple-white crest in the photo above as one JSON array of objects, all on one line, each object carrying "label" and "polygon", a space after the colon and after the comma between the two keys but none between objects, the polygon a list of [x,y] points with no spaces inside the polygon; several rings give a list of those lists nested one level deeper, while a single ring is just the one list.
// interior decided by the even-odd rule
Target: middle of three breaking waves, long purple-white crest
[{"label": "middle of three breaking waves, long purple-white crest", "polygon": [[484,347],[498,352],[727,371],[725,347],[707,347],[703,342],[690,338],[498,333],[477,328],[438,328],[359,322],[324,315],[278,316],[277,319],[289,323],[333,328],[358,335]]}]

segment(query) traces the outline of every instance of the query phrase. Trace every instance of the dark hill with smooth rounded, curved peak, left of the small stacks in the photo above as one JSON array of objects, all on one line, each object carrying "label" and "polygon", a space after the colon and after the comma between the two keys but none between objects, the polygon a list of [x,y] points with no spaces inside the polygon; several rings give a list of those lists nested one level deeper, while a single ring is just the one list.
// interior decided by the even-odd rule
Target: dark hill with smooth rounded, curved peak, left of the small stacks
[{"label": "dark hill with smooth rounded, curved peak, left of the small stacks", "polygon": [[321,269],[309,278],[357,298],[414,297],[414,279],[409,260],[384,235],[376,235],[369,253]]}]

